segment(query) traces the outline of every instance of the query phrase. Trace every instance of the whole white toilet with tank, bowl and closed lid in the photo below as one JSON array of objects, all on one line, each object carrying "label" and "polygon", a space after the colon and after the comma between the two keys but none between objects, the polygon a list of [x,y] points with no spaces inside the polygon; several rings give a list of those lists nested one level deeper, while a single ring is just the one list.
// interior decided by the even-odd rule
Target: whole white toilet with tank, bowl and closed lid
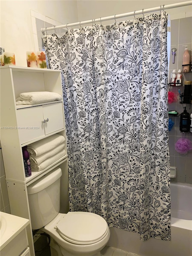
[{"label": "whole white toilet with tank, bowl and closed lid", "polygon": [[50,235],[52,256],[99,256],[110,238],[107,222],[90,212],[59,213],[61,174],[55,168],[27,187],[32,229]]}]

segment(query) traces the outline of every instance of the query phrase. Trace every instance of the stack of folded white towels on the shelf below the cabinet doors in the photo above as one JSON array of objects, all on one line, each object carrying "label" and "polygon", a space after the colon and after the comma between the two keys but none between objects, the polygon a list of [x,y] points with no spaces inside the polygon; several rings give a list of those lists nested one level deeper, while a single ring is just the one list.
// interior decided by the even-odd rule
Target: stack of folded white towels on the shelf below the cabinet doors
[{"label": "stack of folded white towels on the shelf below the cabinet doors", "polygon": [[41,171],[64,157],[65,138],[60,134],[53,134],[45,139],[27,146],[32,171]]}]

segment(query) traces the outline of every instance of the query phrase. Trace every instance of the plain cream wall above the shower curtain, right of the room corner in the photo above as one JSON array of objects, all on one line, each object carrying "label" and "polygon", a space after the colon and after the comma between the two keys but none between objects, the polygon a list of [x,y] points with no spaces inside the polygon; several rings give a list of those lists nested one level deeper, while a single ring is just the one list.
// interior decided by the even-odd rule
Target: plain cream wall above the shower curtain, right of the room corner
[{"label": "plain cream wall above the shower curtain, right of the room corner", "polygon": [[[134,10],[142,10],[157,7],[160,5],[170,5],[174,3],[186,2],[185,0],[81,0],[77,1],[78,20],[92,20],[94,18],[112,16],[114,14],[122,14],[132,12]],[[159,11],[158,11],[159,12]],[[169,9],[171,20],[192,16],[192,6]],[[145,14],[146,15],[146,14]],[[136,15],[137,17],[137,15]],[[133,19],[128,17],[127,19]],[[118,21],[126,20],[126,18],[117,19]],[[112,24],[114,20],[102,22],[102,24]],[[98,22],[99,23],[99,22]]]}]

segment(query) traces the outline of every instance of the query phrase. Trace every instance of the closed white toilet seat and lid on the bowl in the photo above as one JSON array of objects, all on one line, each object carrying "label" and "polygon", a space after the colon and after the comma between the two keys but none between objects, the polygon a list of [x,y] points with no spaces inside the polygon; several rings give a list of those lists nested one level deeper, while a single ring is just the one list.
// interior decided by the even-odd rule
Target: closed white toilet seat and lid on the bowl
[{"label": "closed white toilet seat and lid on the bowl", "polygon": [[64,240],[78,245],[102,240],[109,229],[104,218],[91,212],[68,212],[56,228]]}]

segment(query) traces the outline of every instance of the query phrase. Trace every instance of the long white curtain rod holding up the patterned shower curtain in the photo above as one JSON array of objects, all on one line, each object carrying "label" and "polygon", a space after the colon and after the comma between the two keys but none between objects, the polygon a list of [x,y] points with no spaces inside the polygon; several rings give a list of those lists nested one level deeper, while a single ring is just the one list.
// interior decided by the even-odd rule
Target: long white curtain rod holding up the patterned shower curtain
[{"label": "long white curtain rod holding up the patterned shower curtain", "polygon": [[163,5],[160,7],[154,7],[154,8],[149,8],[149,9],[143,9],[140,11],[134,11],[134,12],[128,12],[128,13],[123,13],[123,14],[115,14],[113,16],[108,16],[108,17],[103,17],[103,18],[98,18],[98,19],[93,19],[93,20],[86,20],[86,21],[79,21],[76,23],[70,23],[70,24],[65,24],[65,25],[60,25],[60,26],[54,26],[54,27],[49,27],[49,28],[42,28],[41,32],[44,34],[45,31],[47,30],[53,30],[53,29],[63,29],[63,28],[67,28],[68,27],[74,27],[74,26],[81,26],[84,24],[88,24],[88,23],[94,23],[95,22],[102,22],[102,21],[106,21],[106,20],[115,20],[115,19],[119,19],[119,18],[125,18],[125,17],[129,17],[129,16],[135,16],[138,14],[144,14],[144,13],[149,13],[149,12],[153,12],[153,11],[163,11],[164,9],[172,9],[172,8],[177,8],[177,7],[182,7],[182,6],[187,6],[187,5],[192,5],[192,1],[187,1],[187,2],[181,2],[181,3],[176,3],[176,4],[171,4],[171,5]]}]

